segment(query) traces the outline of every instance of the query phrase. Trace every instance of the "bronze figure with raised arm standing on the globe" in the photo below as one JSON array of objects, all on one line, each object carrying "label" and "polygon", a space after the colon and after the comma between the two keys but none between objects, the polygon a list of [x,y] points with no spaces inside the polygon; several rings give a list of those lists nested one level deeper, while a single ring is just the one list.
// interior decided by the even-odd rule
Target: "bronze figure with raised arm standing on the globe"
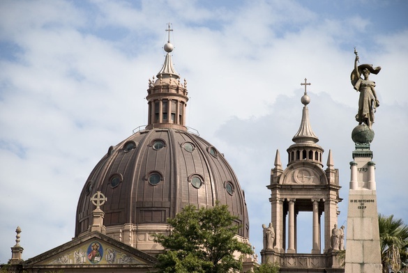
[{"label": "bronze figure with raised arm standing on the globe", "polygon": [[[351,75],[351,81],[354,89],[360,92],[360,98],[358,99],[358,113],[356,114],[356,120],[358,125],[365,124],[370,129],[372,123],[374,123],[374,113],[379,107],[379,101],[377,94],[375,93],[375,81],[370,81],[368,77],[370,73],[377,75],[381,67],[373,68],[372,65],[362,64],[357,65],[359,57],[358,52],[354,48],[354,54],[356,59],[354,61],[354,70]],[[364,79],[361,78],[363,75]]]}]

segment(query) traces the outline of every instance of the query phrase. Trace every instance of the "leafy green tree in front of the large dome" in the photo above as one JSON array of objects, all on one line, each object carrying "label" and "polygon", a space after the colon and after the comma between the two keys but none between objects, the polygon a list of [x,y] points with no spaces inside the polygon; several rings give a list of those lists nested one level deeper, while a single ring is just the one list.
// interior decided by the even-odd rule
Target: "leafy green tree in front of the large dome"
[{"label": "leafy green tree in front of the large dome", "polygon": [[167,251],[158,256],[160,272],[222,273],[242,269],[242,258],[234,258],[234,252],[252,253],[249,244],[234,237],[239,229],[229,214],[227,205],[213,208],[188,205],[168,219],[172,226],[169,235],[156,235],[155,242]]}]

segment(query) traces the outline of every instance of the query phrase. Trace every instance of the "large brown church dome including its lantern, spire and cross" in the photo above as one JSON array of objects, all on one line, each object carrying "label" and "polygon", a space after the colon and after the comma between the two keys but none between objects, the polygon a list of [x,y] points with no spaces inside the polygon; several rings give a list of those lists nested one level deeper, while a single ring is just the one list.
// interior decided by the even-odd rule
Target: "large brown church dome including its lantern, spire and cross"
[{"label": "large brown church dome including its lantern, spire and cross", "polygon": [[101,208],[103,224],[114,238],[121,238],[127,228],[135,233],[143,226],[149,226],[149,237],[163,231],[167,218],[186,205],[211,208],[217,201],[228,205],[238,217],[238,235],[248,238],[245,198],[232,167],[217,148],[185,125],[187,84],[174,70],[172,49],[168,41],[163,68],[157,79],[149,79],[148,125],[111,146],[86,180],[77,205],[76,237],[89,231],[94,209],[90,198],[101,192],[107,197]]}]

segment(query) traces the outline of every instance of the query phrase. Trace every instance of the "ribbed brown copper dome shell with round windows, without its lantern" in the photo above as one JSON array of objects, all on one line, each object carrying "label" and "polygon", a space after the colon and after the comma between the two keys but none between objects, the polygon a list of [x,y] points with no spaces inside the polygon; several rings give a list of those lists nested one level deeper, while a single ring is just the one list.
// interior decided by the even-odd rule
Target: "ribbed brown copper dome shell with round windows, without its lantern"
[{"label": "ribbed brown copper dome shell with round windows, without its lantern", "polygon": [[220,201],[239,217],[239,235],[248,237],[248,212],[234,171],[216,148],[190,132],[144,130],[109,148],[82,189],[76,236],[91,225],[89,198],[97,191],[107,197],[107,227],[164,224],[186,205],[211,207]]}]

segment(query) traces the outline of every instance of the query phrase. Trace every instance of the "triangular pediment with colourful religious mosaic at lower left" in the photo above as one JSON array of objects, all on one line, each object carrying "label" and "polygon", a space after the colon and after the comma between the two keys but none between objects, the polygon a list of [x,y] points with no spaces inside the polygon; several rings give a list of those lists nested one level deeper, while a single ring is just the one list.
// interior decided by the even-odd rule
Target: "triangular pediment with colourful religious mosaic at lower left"
[{"label": "triangular pediment with colourful religious mosaic at lower left", "polygon": [[153,265],[156,258],[96,231],[26,260],[24,265]]}]

